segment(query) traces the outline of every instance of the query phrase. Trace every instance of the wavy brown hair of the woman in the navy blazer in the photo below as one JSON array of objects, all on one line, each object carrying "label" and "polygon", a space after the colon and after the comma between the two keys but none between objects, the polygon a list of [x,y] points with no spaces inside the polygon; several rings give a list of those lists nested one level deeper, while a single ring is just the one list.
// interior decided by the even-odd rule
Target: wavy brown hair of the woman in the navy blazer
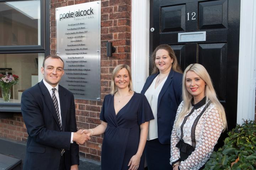
[{"label": "wavy brown hair of the woman in the navy blazer", "polygon": [[154,50],[154,52],[152,53],[152,68],[153,68],[152,74],[159,72],[159,69],[156,67],[156,64],[155,64],[155,57],[156,57],[156,52],[161,49],[166,50],[168,52],[169,56],[173,59],[172,70],[182,74],[182,70],[180,68],[180,65],[178,64],[178,60],[177,60],[177,57],[175,56],[174,51],[167,44],[161,44],[161,45],[157,46],[156,49]]}]

